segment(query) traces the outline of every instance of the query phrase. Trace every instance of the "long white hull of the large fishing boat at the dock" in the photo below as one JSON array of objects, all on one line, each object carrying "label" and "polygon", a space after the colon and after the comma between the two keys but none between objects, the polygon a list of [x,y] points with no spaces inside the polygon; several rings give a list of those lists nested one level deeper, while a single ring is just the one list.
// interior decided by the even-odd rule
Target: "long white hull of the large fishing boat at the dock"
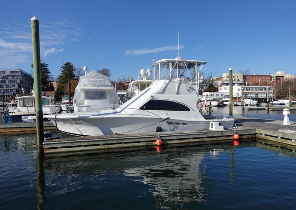
[{"label": "long white hull of the large fishing boat at the dock", "polygon": [[54,118],[49,120],[65,133],[73,135],[110,135],[155,132],[160,126],[162,131],[209,129],[210,121],[221,123],[224,128],[234,125],[234,119],[211,120],[173,120],[153,117],[82,117]]}]

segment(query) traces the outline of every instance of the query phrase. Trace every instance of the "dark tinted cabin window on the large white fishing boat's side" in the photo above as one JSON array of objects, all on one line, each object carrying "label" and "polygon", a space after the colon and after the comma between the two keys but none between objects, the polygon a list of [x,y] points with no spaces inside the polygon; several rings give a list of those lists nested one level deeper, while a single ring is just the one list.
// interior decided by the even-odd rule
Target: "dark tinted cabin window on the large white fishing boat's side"
[{"label": "dark tinted cabin window on the large white fishing boat's side", "polygon": [[180,103],[163,100],[149,100],[140,107],[142,110],[165,110],[165,111],[190,111],[190,109]]}]

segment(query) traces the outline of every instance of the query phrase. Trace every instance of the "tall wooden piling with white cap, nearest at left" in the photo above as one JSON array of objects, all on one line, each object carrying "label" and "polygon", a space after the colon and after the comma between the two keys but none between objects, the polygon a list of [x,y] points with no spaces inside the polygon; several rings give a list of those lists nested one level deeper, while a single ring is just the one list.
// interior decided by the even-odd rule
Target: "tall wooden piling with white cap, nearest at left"
[{"label": "tall wooden piling with white cap, nearest at left", "polygon": [[36,131],[37,147],[40,152],[43,149],[43,113],[42,113],[42,92],[41,92],[41,70],[40,70],[40,43],[39,43],[39,21],[36,17],[31,18],[32,45],[33,45],[33,68],[34,68],[34,94],[36,107]]}]

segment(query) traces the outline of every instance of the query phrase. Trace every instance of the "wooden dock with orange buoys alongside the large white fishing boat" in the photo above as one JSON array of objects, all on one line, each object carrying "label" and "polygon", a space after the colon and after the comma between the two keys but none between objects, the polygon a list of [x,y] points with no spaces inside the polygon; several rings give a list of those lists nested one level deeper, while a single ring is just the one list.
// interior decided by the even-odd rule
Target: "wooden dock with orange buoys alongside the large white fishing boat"
[{"label": "wooden dock with orange buoys alongside the large white fishing boat", "polygon": [[[236,129],[241,140],[256,137],[256,129],[245,127]],[[184,130],[159,132],[163,145],[205,142],[232,142],[235,129],[227,130]],[[138,133],[123,135],[104,135],[73,137],[64,139],[48,139],[43,142],[44,153],[66,153],[93,151],[102,149],[128,148],[138,146],[156,146],[158,133]]]}]

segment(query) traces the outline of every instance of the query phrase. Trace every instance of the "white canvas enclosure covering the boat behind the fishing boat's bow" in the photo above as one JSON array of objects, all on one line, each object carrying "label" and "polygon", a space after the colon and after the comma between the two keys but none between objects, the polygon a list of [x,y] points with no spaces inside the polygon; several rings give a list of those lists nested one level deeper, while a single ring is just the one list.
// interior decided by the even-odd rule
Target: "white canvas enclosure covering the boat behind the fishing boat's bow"
[{"label": "white canvas enclosure covering the boat behind the fishing boat's bow", "polygon": [[80,77],[73,97],[75,112],[106,110],[120,105],[109,77],[93,70]]}]

